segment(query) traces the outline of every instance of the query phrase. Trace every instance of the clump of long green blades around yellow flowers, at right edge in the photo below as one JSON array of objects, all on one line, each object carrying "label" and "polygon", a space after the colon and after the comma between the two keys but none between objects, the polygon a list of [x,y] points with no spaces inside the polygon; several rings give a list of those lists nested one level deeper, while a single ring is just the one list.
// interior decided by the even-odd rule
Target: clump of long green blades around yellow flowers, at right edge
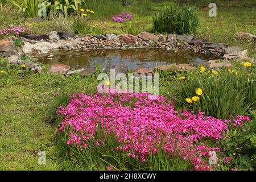
[{"label": "clump of long green blades around yellow flowers, at right edge", "polygon": [[[254,66],[253,66],[254,67]],[[255,110],[256,84],[255,67],[240,68],[235,72],[220,69],[213,73],[191,72],[184,75],[185,80],[176,79],[174,101],[176,107],[195,111],[204,111],[206,115],[228,119],[230,114],[243,115]],[[195,90],[203,89],[200,101],[188,104],[185,98],[196,96]]]}]

